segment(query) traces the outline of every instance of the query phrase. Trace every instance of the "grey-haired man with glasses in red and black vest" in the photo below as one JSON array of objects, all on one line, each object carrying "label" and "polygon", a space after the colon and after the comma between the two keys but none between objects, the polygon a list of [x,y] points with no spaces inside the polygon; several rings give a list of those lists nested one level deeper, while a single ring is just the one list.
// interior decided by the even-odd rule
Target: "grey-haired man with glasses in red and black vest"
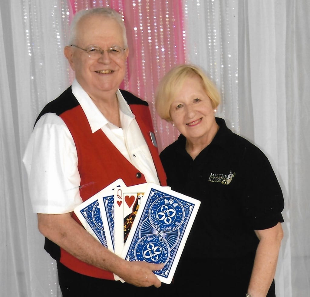
[{"label": "grey-haired man with glasses in red and black vest", "polygon": [[[63,296],[157,292],[162,264],[125,261],[82,228],[73,209],[118,178],[166,185],[146,101],[119,90],[128,56],[121,16],[80,11],[64,55],[75,80],[42,110],[23,162],[38,228],[57,261]],[[113,280],[113,273],[126,283]],[[135,288],[150,287],[150,288]],[[107,291],[108,290],[108,291]],[[153,290],[153,289],[152,289]]]}]

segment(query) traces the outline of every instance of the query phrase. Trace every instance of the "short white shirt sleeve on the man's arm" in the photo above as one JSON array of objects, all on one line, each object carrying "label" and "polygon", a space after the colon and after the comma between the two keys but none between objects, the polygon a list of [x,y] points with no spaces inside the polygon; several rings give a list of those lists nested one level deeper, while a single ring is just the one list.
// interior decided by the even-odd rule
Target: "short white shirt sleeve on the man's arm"
[{"label": "short white shirt sleeve on the man's arm", "polygon": [[72,135],[54,113],[43,115],[30,136],[23,162],[36,213],[63,214],[82,203]]}]

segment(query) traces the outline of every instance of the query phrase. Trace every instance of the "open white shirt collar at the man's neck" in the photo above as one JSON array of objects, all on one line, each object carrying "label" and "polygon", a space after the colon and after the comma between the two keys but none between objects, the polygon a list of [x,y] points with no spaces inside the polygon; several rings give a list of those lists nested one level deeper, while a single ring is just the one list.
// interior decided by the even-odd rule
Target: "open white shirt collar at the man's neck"
[{"label": "open white shirt collar at the man's neck", "polygon": [[[91,97],[86,93],[86,91],[81,87],[81,85],[76,79],[74,79],[72,83],[72,93],[81,105],[86,115],[87,121],[89,122],[89,125],[91,127],[92,133],[95,133],[104,125],[107,125],[109,123],[108,120],[97,108],[93,100],[91,100]],[[119,103],[120,112],[131,118],[135,118],[120,90],[117,90],[116,96]]]}]

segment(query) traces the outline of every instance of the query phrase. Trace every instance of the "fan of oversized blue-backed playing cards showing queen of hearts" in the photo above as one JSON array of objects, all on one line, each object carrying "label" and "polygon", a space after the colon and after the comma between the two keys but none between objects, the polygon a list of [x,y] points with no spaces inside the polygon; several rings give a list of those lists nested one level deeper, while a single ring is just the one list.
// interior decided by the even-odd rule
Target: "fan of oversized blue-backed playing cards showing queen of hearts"
[{"label": "fan of oversized blue-backed playing cards showing queen of hearts", "polygon": [[170,187],[127,187],[118,179],[74,213],[89,233],[123,259],[165,263],[154,273],[170,284],[199,206],[199,200]]}]

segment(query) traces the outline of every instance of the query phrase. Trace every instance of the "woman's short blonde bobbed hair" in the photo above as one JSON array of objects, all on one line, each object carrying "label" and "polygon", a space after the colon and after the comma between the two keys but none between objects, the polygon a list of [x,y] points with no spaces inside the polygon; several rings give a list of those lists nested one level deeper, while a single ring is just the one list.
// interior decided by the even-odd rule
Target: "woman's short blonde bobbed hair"
[{"label": "woman's short blonde bobbed hair", "polygon": [[155,92],[155,108],[158,115],[171,122],[170,106],[175,99],[175,94],[182,88],[186,78],[197,76],[201,79],[202,86],[212,101],[212,107],[217,108],[220,104],[220,95],[216,86],[202,69],[191,64],[181,64],[165,74],[159,82]]}]

